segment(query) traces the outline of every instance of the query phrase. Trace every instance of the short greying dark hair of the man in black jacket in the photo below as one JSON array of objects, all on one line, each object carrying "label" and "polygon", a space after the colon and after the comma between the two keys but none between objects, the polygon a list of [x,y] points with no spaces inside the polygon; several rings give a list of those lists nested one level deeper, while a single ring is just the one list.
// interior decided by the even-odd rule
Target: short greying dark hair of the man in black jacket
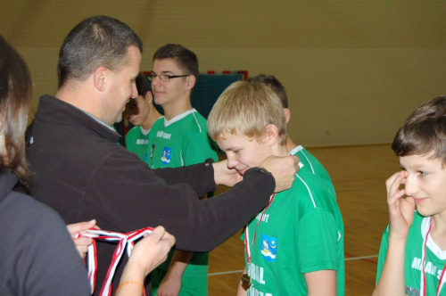
[{"label": "short greying dark hair of the man in black jacket", "polygon": [[143,43],[125,23],[93,16],[78,23],[63,41],[57,64],[58,86],[71,79],[85,80],[98,67],[120,70],[128,64],[128,47],[143,53]]}]

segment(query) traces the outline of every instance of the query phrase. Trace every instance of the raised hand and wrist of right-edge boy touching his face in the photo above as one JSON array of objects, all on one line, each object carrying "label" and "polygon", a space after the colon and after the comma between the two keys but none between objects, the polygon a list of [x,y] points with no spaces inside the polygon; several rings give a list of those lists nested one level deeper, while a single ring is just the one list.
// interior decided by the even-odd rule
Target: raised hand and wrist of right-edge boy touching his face
[{"label": "raised hand and wrist of right-edge boy touching his face", "polygon": [[395,173],[385,181],[387,189],[387,204],[389,207],[390,233],[393,239],[406,241],[409,227],[412,225],[415,214],[415,201],[412,196],[404,198],[406,191],[400,189],[406,183],[408,172],[402,170]]}]

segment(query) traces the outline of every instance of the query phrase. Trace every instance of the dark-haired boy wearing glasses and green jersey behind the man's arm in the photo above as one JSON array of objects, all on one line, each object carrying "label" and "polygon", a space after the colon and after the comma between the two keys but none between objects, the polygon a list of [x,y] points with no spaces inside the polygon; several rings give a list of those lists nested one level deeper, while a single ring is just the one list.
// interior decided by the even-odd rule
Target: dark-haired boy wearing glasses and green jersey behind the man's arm
[{"label": "dark-haired boy wearing glasses and green jersey behind the man's arm", "polygon": [[[153,54],[153,70],[148,78],[164,117],[155,121],[149,134],[147,163],[152,169],[178,168],[209,158],[218,160],[217,145],[208,136],[206,119],[191,105],[197,76],[198,59],[186,47],[164,45]],[[153,271],[153,295],[207,295],[208,257],[207,252],[170,251],[166,262]]]}]

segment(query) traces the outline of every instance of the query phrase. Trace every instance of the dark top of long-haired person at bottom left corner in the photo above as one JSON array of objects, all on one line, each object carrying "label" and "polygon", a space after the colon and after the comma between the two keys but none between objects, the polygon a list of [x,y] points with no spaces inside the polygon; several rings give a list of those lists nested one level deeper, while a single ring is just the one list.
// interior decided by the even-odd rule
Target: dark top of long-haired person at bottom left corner
[{"label": "dark top of long-haired person at bottom left corner", "polygon": [[62,219],[0,175],[0,295],[89,295],[86,269]]}]

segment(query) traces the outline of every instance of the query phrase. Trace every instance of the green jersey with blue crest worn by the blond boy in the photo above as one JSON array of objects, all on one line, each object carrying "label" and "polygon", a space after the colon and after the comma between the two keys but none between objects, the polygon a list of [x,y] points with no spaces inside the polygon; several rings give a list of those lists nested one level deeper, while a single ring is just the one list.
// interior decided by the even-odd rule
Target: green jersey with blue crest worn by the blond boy
[{"label": "green jersey with blue crest worn by the blond boy", "polygon": [[343,295],[343,218],[322,179],[299,170],[292,187],[274,196],[260,221],[262,212],[248,225],[248,295],[307,295],[304,274],[326,269],[336,271],[337,295]]}]

